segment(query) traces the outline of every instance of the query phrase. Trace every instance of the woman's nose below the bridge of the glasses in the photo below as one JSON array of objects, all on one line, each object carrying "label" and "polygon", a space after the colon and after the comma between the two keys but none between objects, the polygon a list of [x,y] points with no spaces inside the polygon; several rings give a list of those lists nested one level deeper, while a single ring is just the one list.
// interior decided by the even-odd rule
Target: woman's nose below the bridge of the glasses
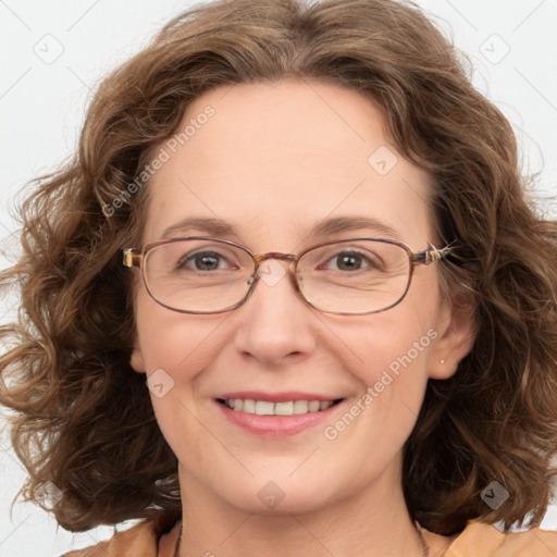
[{"label": "woman's nose below the bridge of the glasses", "polygon": [[317,346],[313,311],[296,292],[287,263],[269,259],[251,296],[235,310],[235,347],[265,367],[304,359]]}]

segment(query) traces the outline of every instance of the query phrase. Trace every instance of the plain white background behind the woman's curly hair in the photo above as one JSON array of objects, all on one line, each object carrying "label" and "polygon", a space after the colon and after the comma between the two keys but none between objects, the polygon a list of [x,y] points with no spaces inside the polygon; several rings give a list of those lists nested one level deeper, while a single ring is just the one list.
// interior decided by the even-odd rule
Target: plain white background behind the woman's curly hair
[{"label": "plain white background behind the woman's curly hair", "polygon": [[[557,0],[418,1],[468,53],[474,83],[507,115],[537,189],[557,196]],[[75,148],[99,79],[145,46],[191,2],[177,0],[0,0],[0,268],[13,245],[9,212],[17,190]],[[50,60],[61,52],[58,59]],[[42,58],[41,58],[42,57]],[[557,214],[557,202],[544,202]],[[2,253],[2,249],[4,253]],[[1,300],[0,321],[13,315]],[[73,535],[30,504],[11,500],[25,471],[0,437],[0,556],[55,557],[112,535]],[[557,513],[544,525],[557,528]]]}]

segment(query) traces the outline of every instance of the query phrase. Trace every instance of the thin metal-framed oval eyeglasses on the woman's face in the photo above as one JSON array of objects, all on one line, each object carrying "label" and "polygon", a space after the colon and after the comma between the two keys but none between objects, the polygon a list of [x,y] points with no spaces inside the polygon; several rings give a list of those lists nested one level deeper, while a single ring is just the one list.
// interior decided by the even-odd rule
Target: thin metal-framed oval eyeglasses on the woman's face
[{"label": "thin metal-framed oval eyeglasses on the woman's face", "polygon": [[413,268],[449,253],[448,246],[414,253],[397,240],[351,238],[319,244],[297,256],[253,255],[231,240],[191,236],[124,248],[123,263],[140,269],[147,292],[161,306],[220,313],[242,306],[259,278],[274,286],[286,274],[280,263],[263,265],[267,260],[287,261],[294,263],[292,284],[307,304],[326,313],[357,315],[399,304]]}]

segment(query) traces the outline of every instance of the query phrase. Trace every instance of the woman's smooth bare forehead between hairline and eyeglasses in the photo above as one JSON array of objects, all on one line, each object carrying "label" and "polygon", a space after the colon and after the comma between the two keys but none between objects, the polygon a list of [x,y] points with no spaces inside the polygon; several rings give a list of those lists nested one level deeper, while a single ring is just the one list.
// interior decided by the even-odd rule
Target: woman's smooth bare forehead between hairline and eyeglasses
[{"label": "woman's smooth bare forehead between hairline and eyeglasses", "polygon": [[429,176],[388,141],[380,110],[350,89],[298,81],[220,87],[188,107],[160,149],[168,157],[148,186],[144,242],[173,225],[181,235],[175,225],[191,218],[226,221],[253,249],[288,249],[310,228],[323,233],[319,222],[344,216],[372,219],[374,236],[392,228],[417,248],[432,236]]}]

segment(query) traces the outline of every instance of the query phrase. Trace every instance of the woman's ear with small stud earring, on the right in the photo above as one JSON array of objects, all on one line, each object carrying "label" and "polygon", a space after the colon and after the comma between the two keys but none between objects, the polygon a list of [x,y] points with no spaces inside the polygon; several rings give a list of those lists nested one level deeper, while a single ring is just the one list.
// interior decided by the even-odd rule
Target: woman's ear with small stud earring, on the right
[{"label": "woman's ear with small stud earring, on the right", "polygon": [[470,299],[451,302],[445,299],[440,312],[437,338],[430,354],[429,376],[448,379],[457,371],[475,341],[478,325]]}]

